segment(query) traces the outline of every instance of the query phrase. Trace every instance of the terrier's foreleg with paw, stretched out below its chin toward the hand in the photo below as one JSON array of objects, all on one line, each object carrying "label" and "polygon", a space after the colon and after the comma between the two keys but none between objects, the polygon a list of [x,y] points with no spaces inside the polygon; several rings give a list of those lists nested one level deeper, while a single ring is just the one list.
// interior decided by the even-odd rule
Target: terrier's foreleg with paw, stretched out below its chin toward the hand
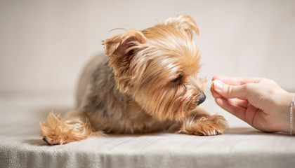
[{"label": "terrier's foreleg with paw, stretched out below its chin toward the hand", "polygon": [[175,123],[169,128],[170,132],[194,134],[194,135],[216,135],[223,134],[227,122],[223,116],[210,116],[202,109],[196,109],[188,113],[181,123]]}]

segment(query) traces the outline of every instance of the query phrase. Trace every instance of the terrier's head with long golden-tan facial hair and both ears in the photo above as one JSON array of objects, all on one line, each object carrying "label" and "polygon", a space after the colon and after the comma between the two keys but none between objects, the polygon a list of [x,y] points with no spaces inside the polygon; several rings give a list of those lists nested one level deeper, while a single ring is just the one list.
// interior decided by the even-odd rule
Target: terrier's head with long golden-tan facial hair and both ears
[{"label": "terrier's head with long golden-tan facial hair and both ears", "polygon": [[204,80],[197,77],[193,31],[199,34],[195,21],[180,15],[104,41],[119,91],[159,120],[181,120],[201,102]]}]

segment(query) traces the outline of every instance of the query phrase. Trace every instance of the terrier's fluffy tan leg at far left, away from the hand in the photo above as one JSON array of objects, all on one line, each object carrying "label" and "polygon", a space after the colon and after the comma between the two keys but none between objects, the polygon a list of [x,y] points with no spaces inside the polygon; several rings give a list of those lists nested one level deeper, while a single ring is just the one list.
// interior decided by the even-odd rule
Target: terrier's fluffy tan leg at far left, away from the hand
[{"label": "terrier's fluffy tan leg at far left, away from the hand", "polygon": [[67,144],[86,139],[94,134],[103,134],[103,132],[91,130],[89,118],[81,111],[70,111],[66,118],[67,120],[63,120],[60,115],[55,116],[49,113],[47,123],[40,123],[40,134],[47,144]]}]

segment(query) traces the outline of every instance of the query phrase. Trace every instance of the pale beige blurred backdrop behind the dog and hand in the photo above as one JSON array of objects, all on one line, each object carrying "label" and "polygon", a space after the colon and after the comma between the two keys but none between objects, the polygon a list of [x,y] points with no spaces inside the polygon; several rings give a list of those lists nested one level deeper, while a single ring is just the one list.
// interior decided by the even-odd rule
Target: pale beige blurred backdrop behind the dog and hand
[{"label": "pale beige blurred backdrop behind the dog and hand", "polygon": [[[0,91],[74,92],[102,41],[189,14],[202,76],[259,76],[295,90],[295,1],[0,1]],[[209,85],[209,83],[207,84]]]}]

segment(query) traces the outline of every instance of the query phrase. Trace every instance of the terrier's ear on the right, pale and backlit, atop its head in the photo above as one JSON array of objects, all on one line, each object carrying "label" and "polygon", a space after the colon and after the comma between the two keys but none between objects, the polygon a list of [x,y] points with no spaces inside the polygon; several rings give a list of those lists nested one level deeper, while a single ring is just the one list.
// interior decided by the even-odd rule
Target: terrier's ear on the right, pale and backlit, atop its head
[{"label": "terrier's ear on the right, pale and backlit, atop its head", "polygon": [[174,18],[168,18],[165,22],[165,25],[172,25],[178,29],[180,29],[183,34],[188,34],[190,39],[193,37],[193,31],[195,34],[199,36],[199,28],[197,24],[189,15],[178,15]]}]

